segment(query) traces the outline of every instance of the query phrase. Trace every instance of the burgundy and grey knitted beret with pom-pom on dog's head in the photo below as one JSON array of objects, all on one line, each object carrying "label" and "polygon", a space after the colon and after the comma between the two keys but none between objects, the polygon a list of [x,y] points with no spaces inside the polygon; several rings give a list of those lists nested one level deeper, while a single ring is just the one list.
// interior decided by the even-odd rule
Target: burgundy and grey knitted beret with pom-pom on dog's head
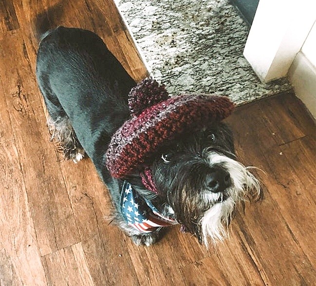
[{"label": "burgundy and grey knitted beret with pom-pom on dog's head", "polygon": [[144,171],[162,143],[219,122],[234,109],[223,96],[169,97],[165,86],[151,78],[130,90],[129,106],[131,118],[114,133],[106,154],[106,165],[114,178]]}]

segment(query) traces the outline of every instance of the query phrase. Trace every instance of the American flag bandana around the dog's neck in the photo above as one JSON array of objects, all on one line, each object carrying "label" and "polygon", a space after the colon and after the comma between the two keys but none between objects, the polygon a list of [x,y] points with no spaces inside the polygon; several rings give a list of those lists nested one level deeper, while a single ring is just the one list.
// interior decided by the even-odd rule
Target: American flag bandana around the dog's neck
[{"label": "American flag bandana around the dog's neck", "polygon": [[124,181],[121,192],[121,210],[126,222],[140,232],[153,232],[156,228],[177,224],[164,217],[149,200],[141,197],[131,184]]}]

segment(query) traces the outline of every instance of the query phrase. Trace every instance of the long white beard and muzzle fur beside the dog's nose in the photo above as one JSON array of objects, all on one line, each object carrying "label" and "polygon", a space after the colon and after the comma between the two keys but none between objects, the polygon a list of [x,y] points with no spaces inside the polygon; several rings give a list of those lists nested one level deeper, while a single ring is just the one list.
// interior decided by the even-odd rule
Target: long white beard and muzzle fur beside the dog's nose
[{"label": "long white beard and muzzle fur beside the dog's nose", "polygon": [[[204,213],[200,223],[202,226],[203,242],[208,246],[208,239],[213,243],[223,241],[227,236],[227,227],[231,220],[236,203],[247,196],[258,197],[260,195],[259,181],[248,171],[248,168],[240,162],[227,158],[218,153],[208,156],[210,166],[221,164],[230,174],[232,186],[226,190],[229,197],[223,202],[215,203]],[[221,194],[209,194],[206,199],[211,203],[218,201]]]}]

